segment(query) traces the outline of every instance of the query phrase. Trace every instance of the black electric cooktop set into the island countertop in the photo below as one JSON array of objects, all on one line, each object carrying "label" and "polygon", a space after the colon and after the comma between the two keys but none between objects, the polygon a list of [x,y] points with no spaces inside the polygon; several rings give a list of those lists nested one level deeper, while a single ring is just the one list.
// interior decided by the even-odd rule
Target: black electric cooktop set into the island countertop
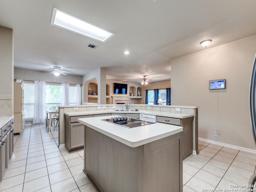
[{"label": "black electric cooktop set into the island countertop", "polygon": [[110,119],[102,119],[102,121],[117,124],[117,125],[120,125],[120,126],[123,126],[126,128],[133,128],[133,127],[138,127],[138,126],[149,125],[149,124],[155,123],[155,122],[130,118],[130,117],[126,117],[126,116],[123,116],[123,117],[118,116],[118,117],[114,117],[114,118],[110,118]]}]

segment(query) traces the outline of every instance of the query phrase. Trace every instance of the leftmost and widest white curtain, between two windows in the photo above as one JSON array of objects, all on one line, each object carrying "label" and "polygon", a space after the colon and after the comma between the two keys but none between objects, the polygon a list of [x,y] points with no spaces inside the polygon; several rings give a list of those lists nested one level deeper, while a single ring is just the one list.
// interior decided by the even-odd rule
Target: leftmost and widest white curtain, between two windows
[{"label": "leftmost and widest white curtain, between two windows", "polygon": [[46,115],[46,93],[45,82],[35,81],[35,103],[33,123],[45,122]]}]

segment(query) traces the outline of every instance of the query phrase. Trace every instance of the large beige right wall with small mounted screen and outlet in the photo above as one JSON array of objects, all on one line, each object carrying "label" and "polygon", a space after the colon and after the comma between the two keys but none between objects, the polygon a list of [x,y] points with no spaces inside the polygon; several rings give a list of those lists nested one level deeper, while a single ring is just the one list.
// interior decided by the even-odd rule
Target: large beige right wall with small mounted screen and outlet
[{"label": "large beige right wall with small mounted screen and outlet", "polygon": [[[172,60],[172,105],[200,106],[199,137],[255,149],[248,106],[255,52],[256,35]],[[209,90],[218,79],[226,89]]]}]

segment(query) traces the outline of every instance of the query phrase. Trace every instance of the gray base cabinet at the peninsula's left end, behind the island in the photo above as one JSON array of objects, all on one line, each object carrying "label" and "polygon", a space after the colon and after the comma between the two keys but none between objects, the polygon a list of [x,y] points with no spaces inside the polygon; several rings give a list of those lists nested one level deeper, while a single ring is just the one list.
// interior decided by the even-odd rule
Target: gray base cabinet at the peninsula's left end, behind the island
[{"label": "gray base cabinet at the peninsula's left end, behind the island", "polygon": [[92,115],[73,116],[65,115],[65,147],[68,152],[84,148],[84,125],[78,118],[92,117]]}]

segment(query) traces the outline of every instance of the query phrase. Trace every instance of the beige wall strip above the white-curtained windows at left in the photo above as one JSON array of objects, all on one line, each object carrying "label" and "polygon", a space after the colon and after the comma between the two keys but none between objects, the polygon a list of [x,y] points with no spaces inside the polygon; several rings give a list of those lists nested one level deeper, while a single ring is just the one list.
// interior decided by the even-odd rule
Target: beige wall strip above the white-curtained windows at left
[{"label": "beige wall strip above the white-curtained windows at left", "polygon": [[49,72],[29,70],[22,68],[14,68],[14,79],[32,80],[32,81],[45,81],[56,83],[69,83],[69,84],[82,84],[82,76],[77,75],[62,75],[58,77]]}]

